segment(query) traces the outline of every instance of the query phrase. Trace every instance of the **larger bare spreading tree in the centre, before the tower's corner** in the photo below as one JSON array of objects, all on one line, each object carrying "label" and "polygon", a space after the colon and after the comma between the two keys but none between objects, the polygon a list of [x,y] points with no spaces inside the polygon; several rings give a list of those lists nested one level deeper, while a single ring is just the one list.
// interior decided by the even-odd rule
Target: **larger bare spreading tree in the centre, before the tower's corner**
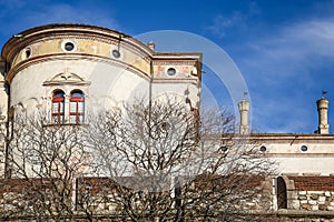
[{"label": "larger bare spreading tree in the centre, before the tower's corner", "polygon": [[86,195],[131,221],[255,220],[250,210],[268,206],[271,163],[234,124],[228,112],[199,118],[168,97],[101,113],[87,139],[95,174],[106,179],[86,180]]}]

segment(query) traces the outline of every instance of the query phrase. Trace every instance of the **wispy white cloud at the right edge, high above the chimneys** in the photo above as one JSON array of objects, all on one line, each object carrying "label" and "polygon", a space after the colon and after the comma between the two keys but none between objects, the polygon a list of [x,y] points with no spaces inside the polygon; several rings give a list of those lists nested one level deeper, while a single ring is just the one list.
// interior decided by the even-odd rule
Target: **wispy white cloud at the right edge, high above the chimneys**
[{"label": "wispy white cloud at the right edge, high above the chimneys", "polygon": [[258,42],[253,49],[273,61],[304,61],[308,57],[328,56],[334,51],[334,21],[306,21],[285,27]]}]

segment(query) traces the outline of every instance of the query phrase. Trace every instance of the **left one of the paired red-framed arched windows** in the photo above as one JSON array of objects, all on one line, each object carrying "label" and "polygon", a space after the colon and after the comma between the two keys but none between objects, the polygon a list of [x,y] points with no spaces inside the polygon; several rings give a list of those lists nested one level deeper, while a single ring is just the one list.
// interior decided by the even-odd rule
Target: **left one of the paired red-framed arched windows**
[{"label": "left one of the paired red-framed arched windows", "polygon": [[65,93],[57,90],[52,94],[52,121],[56,124],[63,123],[65,119]]}]

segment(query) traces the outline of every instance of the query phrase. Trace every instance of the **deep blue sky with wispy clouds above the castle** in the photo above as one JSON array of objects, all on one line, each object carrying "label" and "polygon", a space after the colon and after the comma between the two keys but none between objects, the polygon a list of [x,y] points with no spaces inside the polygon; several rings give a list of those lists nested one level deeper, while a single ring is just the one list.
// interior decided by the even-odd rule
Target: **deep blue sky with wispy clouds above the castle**
[{"label": "deep blue sky with wispy clouds above the castle", "polygon": [[[102,26],[130,36],[180,30],[207,38],[246,80],[258,132],[312,133],[322,90],[334,104],[334,0],[0,0],[0,46],[14,33],[55,22]],[[208,70],[204,85],[230,105],[214,75]]]}]

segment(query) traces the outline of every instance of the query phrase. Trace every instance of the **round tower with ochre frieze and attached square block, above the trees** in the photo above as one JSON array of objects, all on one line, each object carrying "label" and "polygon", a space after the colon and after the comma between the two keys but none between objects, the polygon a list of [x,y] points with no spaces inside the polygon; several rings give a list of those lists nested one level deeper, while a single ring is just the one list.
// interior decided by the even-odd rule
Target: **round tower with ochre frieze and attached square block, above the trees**
[{"label": "round tower with ochre frieze and attached square block, above the trees", "polygon": [[[202,53],[155,52],[107,28],[58,23],[14,34],[2,48],[9,108],[43,111],[51,123],[82,123],[85,114],[131,99],[179,94],[199,105]],[[189,93],[186,95],[185,91]]]}]

